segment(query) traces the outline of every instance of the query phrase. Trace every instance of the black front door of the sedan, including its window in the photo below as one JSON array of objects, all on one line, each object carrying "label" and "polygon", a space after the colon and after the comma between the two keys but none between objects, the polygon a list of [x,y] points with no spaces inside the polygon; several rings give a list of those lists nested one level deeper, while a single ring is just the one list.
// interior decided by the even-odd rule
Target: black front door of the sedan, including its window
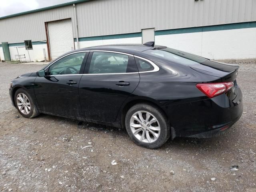
[{"label": "black front door of the sedan, including its window", "polygon": [[78,84],[87,56],[88,52],[68,54],[48,66],[46,76],[36,78],[34,90],[39,110],[79,116]]}]

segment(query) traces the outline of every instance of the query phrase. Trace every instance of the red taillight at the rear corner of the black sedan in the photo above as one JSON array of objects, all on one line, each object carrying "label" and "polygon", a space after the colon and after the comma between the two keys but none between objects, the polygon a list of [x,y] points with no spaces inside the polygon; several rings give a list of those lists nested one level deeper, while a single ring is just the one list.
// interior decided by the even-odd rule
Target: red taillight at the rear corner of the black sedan
[{"label": "red taillight at the rear corner of the black sedan", "polygon": [[224,83],[200,83],[196,87],[202,91],[208,98],[213,98],[227,92],[234,86],[233,82]]}]

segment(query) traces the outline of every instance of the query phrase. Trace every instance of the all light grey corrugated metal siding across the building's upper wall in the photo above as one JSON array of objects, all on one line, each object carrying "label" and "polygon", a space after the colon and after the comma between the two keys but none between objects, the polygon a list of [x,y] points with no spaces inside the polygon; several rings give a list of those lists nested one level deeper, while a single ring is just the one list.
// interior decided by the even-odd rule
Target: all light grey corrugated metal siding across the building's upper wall
[{"label": "all light grey corrugated metal siding across the building's upper wall", "polygon": [[[256,0],[91,0],[76,4],[79,37],[256,21]],[[72,18],[72,5],[0,20],[0,42],[46,40],[44,22]]]}]

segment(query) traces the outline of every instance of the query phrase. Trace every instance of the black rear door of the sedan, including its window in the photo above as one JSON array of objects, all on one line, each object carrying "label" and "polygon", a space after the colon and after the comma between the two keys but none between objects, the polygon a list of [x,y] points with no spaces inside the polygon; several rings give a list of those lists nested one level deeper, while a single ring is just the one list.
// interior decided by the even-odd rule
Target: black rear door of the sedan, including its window
[{"label": "black rear door of the sedan, including its window", "polygon": [[82,118],[114,122],[122,103],[138,86],[134,56],[91,51],[79,84]]}]

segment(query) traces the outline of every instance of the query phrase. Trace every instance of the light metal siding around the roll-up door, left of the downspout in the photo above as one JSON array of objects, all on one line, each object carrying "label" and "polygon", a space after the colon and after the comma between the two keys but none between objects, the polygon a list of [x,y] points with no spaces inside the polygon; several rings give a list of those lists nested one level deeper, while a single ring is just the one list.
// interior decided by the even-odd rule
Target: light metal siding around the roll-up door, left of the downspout
[{"label": "light metal siding around the roll-up door, left of the downspout", "polygon": [[10,44],[24,42],[24,40],[45,41],[44,22],[66,18],[74,18],[72,5],[2,19],[0,20],[0,42],[8,41]]}]

